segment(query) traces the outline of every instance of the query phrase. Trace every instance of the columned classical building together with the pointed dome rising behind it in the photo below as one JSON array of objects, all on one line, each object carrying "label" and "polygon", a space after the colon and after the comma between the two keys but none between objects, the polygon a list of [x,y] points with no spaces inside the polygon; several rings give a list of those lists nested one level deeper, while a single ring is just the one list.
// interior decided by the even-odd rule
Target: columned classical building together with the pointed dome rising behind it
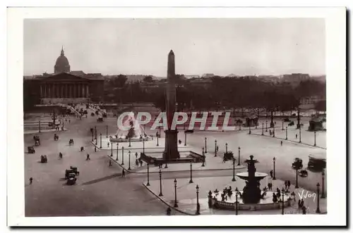
[{"label": "columned classical building together with the pointed dome rising behind it", "polygon": [[54,65],[54,74],[44,73],[24,77],[24,98],[34,103],[100,102],[104,97],[104,78],[101,74],[70,71],[68,59],[61,49]]}]

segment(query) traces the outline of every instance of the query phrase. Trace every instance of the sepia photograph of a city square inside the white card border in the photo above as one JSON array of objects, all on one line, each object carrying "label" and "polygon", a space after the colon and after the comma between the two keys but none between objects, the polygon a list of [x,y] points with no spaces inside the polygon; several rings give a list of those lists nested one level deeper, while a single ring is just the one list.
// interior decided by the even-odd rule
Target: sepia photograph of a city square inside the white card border
[{"label": "sepia photograph of a city square inside the white card border", "polygon": [[330,215],[324,17],[64,12],[20,19],[23,218]]}]

